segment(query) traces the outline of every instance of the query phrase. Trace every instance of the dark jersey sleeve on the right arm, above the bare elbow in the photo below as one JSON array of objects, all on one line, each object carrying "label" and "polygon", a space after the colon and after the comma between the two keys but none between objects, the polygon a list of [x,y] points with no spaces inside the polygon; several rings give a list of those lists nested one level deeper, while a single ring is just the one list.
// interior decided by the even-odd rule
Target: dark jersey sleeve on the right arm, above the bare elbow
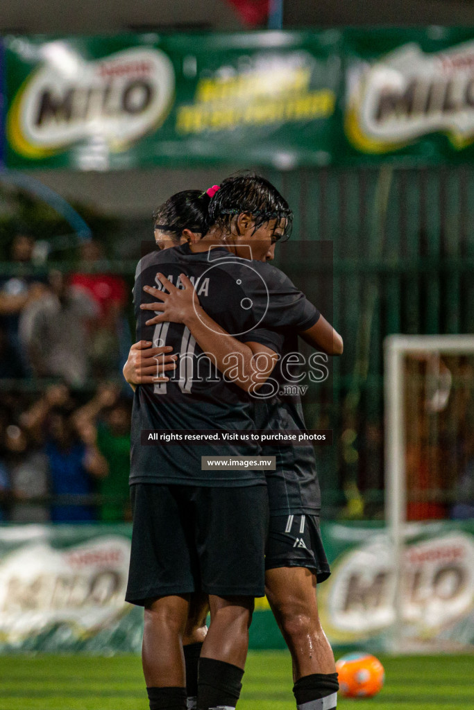
[{"label": "dark jersey sleeve on the right arm, above the bare elbow", "polygon": [[261,272],[266,288],[259,299],[261,303],[266,302],[262,326],[302,331],[318,322],[320,312],[288,276],[270,264],[263,266],[267,268]]}]

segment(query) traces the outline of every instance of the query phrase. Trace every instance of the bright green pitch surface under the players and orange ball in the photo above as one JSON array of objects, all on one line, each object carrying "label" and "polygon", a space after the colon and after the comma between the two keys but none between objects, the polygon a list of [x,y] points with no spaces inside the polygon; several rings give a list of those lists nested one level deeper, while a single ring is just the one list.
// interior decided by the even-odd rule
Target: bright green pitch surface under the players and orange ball
[{"label": "bright green pitch surface under the players and orange ball", "polygon": [[[370,700],[338,701],[345,710],[474,708],[474,656],[381,659],[385,687]],[[286,652],[252,652],[239,710],[294,710]],[[147,710],[135,656],[0,657],[0,710]]]}]

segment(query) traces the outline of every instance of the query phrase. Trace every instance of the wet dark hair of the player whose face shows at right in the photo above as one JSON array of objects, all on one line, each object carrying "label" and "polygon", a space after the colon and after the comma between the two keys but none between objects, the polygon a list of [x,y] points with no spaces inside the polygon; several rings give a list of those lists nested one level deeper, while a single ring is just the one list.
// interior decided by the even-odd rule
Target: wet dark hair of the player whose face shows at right
[{"label": "wet dark hair of the player whose face shows at right", "polygon": [[211,198],[208,207],[208,229],[217,224],[225,231],[232,219],[242,212],[252,214],[255,229],[276,219],[279,226],[285,220],[284,236],[291,234],[293,212],[276,187],[256,173],[237,173],[226,178]]}]

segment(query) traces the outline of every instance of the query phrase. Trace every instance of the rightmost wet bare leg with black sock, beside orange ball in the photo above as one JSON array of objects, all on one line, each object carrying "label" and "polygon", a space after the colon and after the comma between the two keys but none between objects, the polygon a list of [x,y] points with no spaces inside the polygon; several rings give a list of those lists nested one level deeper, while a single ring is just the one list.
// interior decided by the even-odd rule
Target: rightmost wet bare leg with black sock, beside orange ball
[{"label": "rightmost wet bare leg with black sock, beside orange ball", "polygon": [[316,575],[306,567],[277,567],[265,574],[266,596],[293,662],[293,692],[299,709],[330,697],[336,706],[338,680],[333,650],[321,627]]}]

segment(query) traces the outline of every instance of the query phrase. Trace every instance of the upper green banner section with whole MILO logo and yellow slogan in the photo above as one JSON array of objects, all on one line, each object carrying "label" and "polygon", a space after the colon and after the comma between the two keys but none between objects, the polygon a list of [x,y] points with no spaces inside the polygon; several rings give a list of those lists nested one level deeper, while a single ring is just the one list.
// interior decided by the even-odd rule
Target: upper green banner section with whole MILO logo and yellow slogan
[{"label": "upper green banner section with whole MILO logo and yellow slogan", "polygon": [[7,38],[7,163],[328,163],[339,45],[334,31]]}]

